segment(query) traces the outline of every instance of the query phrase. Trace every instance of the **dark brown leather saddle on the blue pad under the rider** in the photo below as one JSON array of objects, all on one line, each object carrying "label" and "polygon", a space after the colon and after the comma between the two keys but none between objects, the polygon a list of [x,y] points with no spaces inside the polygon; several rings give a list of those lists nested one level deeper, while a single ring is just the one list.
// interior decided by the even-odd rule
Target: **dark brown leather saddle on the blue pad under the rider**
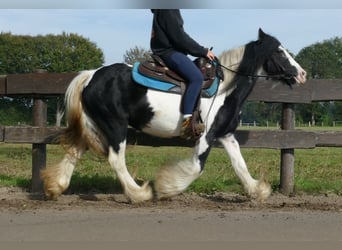
[{"label": "dark brown leather saddle on the blue pad under the rider", "polygon": [[[163,82],[170,82],[181,89],[183,94],[186,88],[186,80],[176,72],[169,69],[164,61],[157,55],[151,55],[152,60],[143,61],[138,67],[138,72],[144,76],[157,79]],[[223,80],[221,67],[216,67],[215,63],[204,57],[194,60],[194,63],[203,74],[204,81],[202,89],[208,89],[213,84],[215,77]]]}]

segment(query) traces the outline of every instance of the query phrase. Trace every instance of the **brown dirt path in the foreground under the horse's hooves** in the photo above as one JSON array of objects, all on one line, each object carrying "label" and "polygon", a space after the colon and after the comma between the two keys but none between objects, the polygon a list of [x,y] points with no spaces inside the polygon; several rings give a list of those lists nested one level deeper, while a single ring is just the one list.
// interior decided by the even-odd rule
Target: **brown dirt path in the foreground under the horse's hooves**
[{"label": "brown dirt path in the foreground under the horse's hooves", "polygon": [[122,195],[0,189],[0,241],[342,241],[342,197],[185,194],[129,204]]}]

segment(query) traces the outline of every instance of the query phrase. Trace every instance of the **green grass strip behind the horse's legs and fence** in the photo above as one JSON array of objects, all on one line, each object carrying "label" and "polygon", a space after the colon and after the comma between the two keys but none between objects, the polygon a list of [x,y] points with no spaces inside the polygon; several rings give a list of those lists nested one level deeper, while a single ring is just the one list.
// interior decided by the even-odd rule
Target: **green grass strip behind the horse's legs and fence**
[{"label": "green grass strip behind the horse's legs and fence", "polygon": [[[63,156],[60,146],[48,145],[47,163]],[[158,169],[172,161],[191,157],[182,147],[128,146],[127,165],[140,182],[154,180]],[[242,149],[252,176],[265,174],[274,190],[279,185],[280,152],[273,149]],[[30,187],[31,145],[0,144],[0,186]],[[188,189],[197,193],[243,192],[222,148],[212,150],[205,171]],[[333,192],[342,195],[342,148],[295,150],[295,191],[310,194]],[[122,192],[107,160],[86,153],[71,180],[69,192]]]}]

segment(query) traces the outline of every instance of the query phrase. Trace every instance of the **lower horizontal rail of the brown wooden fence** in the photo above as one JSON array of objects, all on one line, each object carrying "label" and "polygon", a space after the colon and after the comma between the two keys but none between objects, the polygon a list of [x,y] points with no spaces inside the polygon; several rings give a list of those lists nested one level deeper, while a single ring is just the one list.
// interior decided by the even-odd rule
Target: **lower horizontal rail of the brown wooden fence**
[{"label": "lower horizontal rail of the brown wooden fence", "polygon": [[[58,144],[60,127],[0,127],[0,141],[20,144]],[[315,147],[342,147],[342,131],[303,131],[303,130],[237,130],[236,139],[241,147],[270,149],[311,149]],[[159,138],[134,129],[128,130],[128,144],[141,146],[185,146],[193,143],[176,138]]]}]

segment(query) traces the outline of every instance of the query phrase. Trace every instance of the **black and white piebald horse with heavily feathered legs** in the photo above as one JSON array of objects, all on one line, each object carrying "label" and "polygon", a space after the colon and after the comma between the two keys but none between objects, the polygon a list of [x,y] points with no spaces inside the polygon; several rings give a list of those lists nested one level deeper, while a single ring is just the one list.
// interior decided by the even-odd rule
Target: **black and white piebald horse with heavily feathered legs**
[{"label": "black and white piebald horse with heavily feathered legs", "polygon": [[[223,52],[219,61],[225,67],[224,80],[216,96],[202,98],[200,103],[205,132],[190,159],[161,168],[156,174],[154,188],[159,199],[182,193],[201,175],[216,141],[229,155],[250,198],[264,200],[271,194],[263,178],[257,180],[250,175],[234,137],[241,107],[258,77],[268,76],[288,85],[302,84],[306,72],[276,38],[261,29],[257,41]],[[65,156],[41,172],[47,198],[57,199],[68,188],[78,160],[91,149],[108,158],[131,202],[151,200],[154,193],[150,184],[138,185],[127,170],[128,126],[158,137],[179,136],[180,102],[180,95],[137,85],[132,79],[132,67],[123,63],[80,72],[65,94],[68,125],[61,139],[67,145]]]}]

